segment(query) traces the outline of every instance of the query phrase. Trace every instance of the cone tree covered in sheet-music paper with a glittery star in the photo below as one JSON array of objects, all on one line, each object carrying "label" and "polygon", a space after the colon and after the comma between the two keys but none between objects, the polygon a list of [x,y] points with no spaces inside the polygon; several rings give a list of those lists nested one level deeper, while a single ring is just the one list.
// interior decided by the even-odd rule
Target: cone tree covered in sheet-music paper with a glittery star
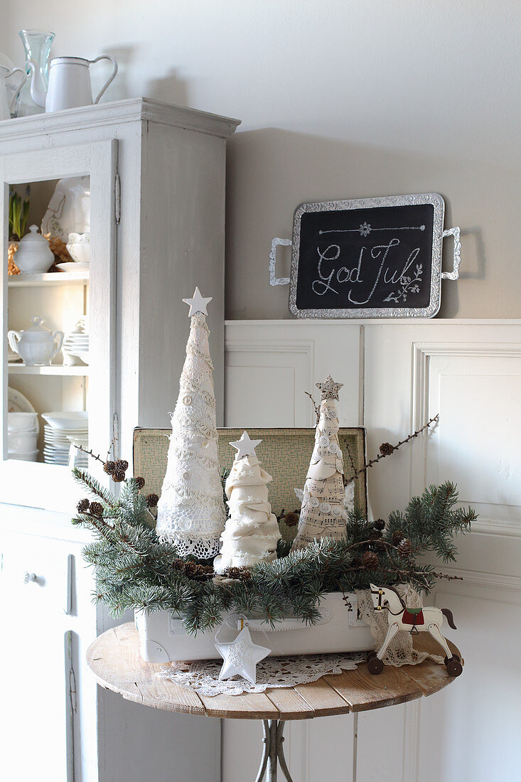
[{"label": "cone tree covered in sheet-music paper with a glittery star", "polygon": [[340,540],[346,533],[343,510],[343,456],[338,442],[338,414],[335,400],[343,383],[328,375],[317,383],[322,401],[314,436],[314,450],[307,470],[299,527],[292,551],[312,540],[329,537]]}]

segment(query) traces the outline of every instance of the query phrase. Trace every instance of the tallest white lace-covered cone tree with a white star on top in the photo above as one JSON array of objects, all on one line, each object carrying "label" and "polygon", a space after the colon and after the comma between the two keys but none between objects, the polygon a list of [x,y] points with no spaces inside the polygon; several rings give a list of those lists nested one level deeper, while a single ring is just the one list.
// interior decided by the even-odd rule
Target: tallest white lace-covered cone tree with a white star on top
[{"label": "tallest white lace-covered cone tree with a white star on top", "polygon": [[210,300],[201,296],[199,288],[192,299],[183,299],[190,305],[192,321],[156,525],[160,540],[174,543],[180,556],[200,558],[217,554],[226,518],[217,462],[214,367],[208,346]]}]

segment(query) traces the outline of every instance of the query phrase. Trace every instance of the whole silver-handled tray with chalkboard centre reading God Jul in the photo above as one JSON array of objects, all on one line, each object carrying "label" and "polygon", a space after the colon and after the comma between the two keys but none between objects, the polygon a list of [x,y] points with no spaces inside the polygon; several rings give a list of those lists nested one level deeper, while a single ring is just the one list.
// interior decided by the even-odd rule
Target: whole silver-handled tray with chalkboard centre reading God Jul
[{"label": "whole silver-handled tray with chalkboard centre reading God Jul", "polygon": [[[293,241],[274,239],[271,284],[289,282],[297,317],[433,317],[442,278],[457,279],[459,228],[444,231],[437,193],[303,203]],[[454,271],[441,271],[444,236],[454,235]],[[291,278],[275,278],[278,244],[292,246]]]}]

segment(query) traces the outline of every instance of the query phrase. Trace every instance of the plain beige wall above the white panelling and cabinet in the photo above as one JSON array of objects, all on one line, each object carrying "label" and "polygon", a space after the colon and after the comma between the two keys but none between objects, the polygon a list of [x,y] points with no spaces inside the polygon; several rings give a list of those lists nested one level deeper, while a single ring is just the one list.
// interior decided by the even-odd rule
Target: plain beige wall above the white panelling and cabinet
[{"label": "plain beige wall above the white panelling and cabinet", "polygon": [[5,0],[0,50],[16,64],[21,27],[54,30],[55,55],[116,56],[106,100],[243,120],[229,144],[228,317],[289,317],[268,252],[301,201],[426,191],[462,228],[440,315],[521,317],[516,0]]}]

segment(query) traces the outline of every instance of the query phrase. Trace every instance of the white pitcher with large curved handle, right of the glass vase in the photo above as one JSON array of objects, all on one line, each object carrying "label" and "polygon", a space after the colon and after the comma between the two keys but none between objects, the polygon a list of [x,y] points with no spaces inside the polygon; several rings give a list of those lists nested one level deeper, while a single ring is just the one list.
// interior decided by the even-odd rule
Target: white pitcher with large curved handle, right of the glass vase
[{"label": "white pitcher with large curved handle, right of the glass vase", "polygon": [[[113,71],[93,101],[91,75],[88,68],[94,63],[99,63],[100,59],[109,59],[113,64]],[[27,64],[32,71],[31,97],[38,106],[45,106],[46,112],[74,109],[77,106],[92,106],[92,103],[99,101],[117,74],[117,62],[108,54],[102,54],[96,59],[55,57],[49,66],[49,89],[43,92],[38,88],[36,63],[31,60]]]}]

